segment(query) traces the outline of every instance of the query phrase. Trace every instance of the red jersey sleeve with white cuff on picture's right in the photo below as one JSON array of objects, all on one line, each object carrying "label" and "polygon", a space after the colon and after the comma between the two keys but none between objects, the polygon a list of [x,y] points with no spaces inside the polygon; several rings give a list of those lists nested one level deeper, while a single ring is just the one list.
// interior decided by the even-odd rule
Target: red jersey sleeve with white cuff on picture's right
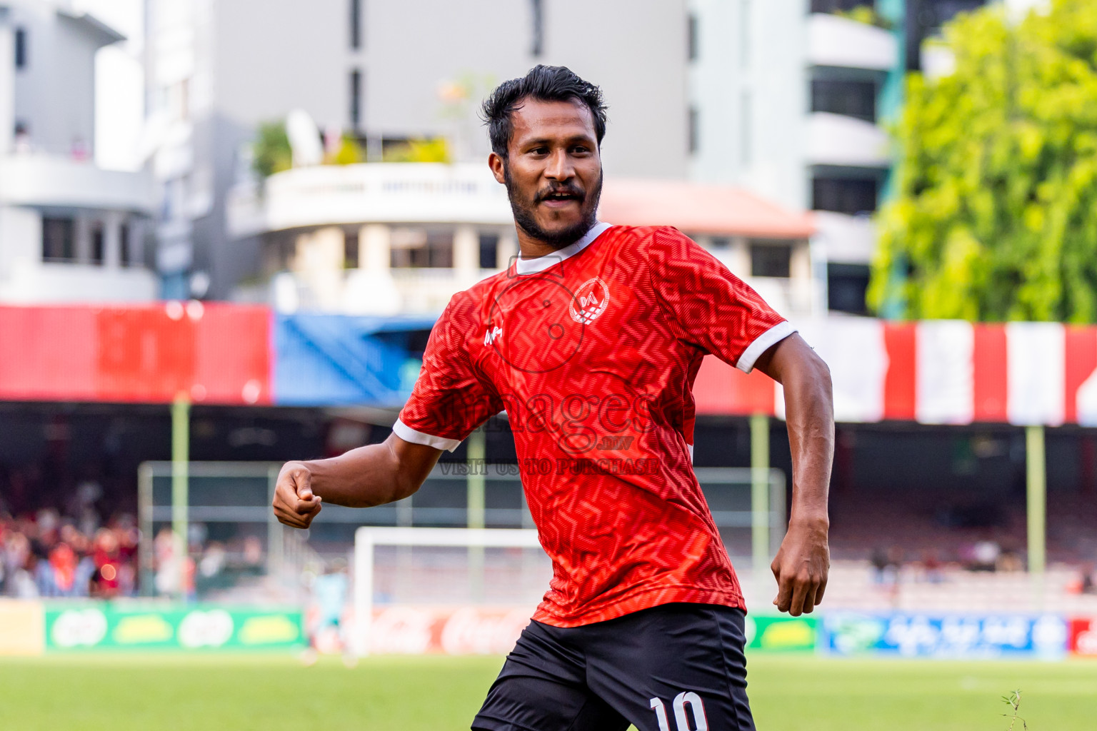
[{"label": "red jersey sleeve with white cuff on picture's right", "polygon": [[757,292],[674,228],[652,232],[652,284],[680,340],[744,373],[796,331]]}]

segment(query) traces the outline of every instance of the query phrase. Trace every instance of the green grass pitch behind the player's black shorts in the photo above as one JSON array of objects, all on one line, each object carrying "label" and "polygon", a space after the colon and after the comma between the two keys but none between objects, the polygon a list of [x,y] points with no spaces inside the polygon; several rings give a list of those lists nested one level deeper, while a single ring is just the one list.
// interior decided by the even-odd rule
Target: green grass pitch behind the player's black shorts
[{"label": "green grass pitch behind the player's black shorts", "polygon": [[[8,658],[0,729],[456,731],[501,662],[372,658],[347,670],[284,655]],[[1005,731],[999,697],[1014,688],[1030,731],[1097,729],[1097,663],[754,655],[748,667],[761,731]]]}]

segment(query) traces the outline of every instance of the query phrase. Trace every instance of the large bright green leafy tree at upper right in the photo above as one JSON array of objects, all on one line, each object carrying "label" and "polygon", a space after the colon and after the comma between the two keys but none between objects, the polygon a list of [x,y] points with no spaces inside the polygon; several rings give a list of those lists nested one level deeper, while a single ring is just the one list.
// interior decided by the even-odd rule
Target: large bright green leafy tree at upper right
[{"label": "large bright green leafy tree at upper right", "polygon": [[912,73],[869,302],[909,318],[1097,321],[1097,10],[999,4]]}]

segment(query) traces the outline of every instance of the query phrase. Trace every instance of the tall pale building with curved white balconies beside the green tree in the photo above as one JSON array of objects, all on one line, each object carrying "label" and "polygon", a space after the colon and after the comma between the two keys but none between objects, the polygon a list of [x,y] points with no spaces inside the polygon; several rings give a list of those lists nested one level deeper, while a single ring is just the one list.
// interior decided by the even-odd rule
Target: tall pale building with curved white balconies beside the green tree
[{"label": "tall pale building with curved white balconies beside the green tree", "polygon": [[885,132],[924,42],[984,0],[691,0],[690,175],[816,213],[828,307],[866,311]]}]

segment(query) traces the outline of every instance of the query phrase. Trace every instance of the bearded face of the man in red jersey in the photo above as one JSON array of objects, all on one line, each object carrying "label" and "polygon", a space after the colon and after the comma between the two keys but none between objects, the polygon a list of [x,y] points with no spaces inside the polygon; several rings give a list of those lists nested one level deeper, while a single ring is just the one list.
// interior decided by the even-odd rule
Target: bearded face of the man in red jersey
[{"label": "bearded face of the man in red jersey", "polygon": [[506,183],[514,221],[554,249],[595,225],[602,163],[595,119],[583,102],[527,99],[511,115],[508,159],[491,153],[496,180]]}]

